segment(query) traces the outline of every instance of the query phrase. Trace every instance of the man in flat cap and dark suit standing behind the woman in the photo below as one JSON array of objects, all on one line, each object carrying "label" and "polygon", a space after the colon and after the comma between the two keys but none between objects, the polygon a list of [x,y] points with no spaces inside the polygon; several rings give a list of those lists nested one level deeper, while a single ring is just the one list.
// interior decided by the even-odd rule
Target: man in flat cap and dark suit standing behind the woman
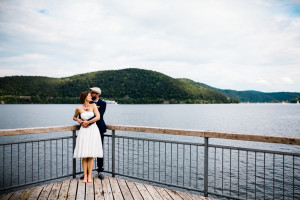
[{"label": "man in flat cap and dark suit standing behind the woman", "polygon": [[[103,119],[105,110],[106,110],[106,102],[102,101],[99,96],[101,94],[101,89],[98,87],[93,87],[90,88],[91,90],[91,96],[92,96],[92,102],[91,103],[95,103],[97,105],[97,108],[99,110],[100,113],[100,120],[96,122],[98,129],[100,131],[100,135],[101,135],[101,140],[102,140],[102,148],[104,148],[103,146],[103,141],[104,141],[104,133],[106,132],[106,125]],[[89,119],[90,120],[90,119]],[[104,151],[104,149],[103,149]],[[104,155],[104,152],[103,152]],[[97,171],[98,171],[98,177],[100,179],[104,178],[104,175],[102,174],[102,172],[104,171],[104,167],[103,167],[103,158],[97,158]],[[83,176],[80,177],[81,179],[83,179]]]}]

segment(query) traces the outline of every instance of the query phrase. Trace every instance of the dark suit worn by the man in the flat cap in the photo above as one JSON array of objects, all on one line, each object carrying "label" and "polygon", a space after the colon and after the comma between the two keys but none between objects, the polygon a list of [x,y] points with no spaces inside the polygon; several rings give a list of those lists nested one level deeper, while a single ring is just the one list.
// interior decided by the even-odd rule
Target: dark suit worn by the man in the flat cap
[{"label": "dark suit worn by the man in the flat cap", "polygon": [[[96,105],[100,106],[100,107],[98,107],[98,110],[99,110],[99,113],[100,113],[100,120],[97,121],[96,124],[99,128],[99,131],[100,131],[101,140],[102,140],[102,148],[103,148],[103,151],[104,151],[103,142],[104,142],[104,133],[106,132],[106,124],[105,124],[105,121],[104,121],[103,117],[104,117],[104,113],[105,113],[105,110],[106,110],[106,102],[99,99],[96,102]],[[103,152],[103,156],[104,156],[104,152]],[[97,171],[98,172],[103,172],[103,170],[104,170],[103,158],[97,158],[97,166],[98,166]]]}]

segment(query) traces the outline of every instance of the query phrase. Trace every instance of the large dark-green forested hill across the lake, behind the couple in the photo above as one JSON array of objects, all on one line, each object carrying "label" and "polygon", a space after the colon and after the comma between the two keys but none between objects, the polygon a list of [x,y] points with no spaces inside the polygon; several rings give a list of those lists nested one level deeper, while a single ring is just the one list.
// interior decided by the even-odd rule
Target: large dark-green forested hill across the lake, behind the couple
[{"label": "large dark-green forested hill across the lake, behind the couple", "polygon": [[134,68],[66,78],[12,76],[0,78],[0,100],[2,103],[80,103],[80,93],[96,86],[101,88],[102,98],[118,103],[237,102],[207,86],[191,82]]}]

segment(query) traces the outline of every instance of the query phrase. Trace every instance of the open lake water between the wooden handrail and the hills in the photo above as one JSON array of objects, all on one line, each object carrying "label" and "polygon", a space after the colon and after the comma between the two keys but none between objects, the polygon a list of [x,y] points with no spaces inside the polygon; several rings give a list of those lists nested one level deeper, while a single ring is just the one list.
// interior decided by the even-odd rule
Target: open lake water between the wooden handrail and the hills
[{"label": "open lake water between the wooden handrail and the hills", "polygon": [[[76,124],[73,104],[0,105],[0,129]],[[298,104],[107,105],[107,124],[300,136]]]}]

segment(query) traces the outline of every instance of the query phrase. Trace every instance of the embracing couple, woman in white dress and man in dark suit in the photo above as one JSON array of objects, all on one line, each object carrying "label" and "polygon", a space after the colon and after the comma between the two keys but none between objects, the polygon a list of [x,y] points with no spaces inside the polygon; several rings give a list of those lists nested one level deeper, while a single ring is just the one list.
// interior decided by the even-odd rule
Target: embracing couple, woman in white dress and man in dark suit
[{"label": "embracing couple, woman in white dress and man in dark suit", "polygon": [[92,182],[92,170],[94,158],[97,158],[98,177],[103,179],[103,139],[106,132],[106,125],[103,115],[106,109],[106,102],[99,99],[101,89],[90,88],[80,94],[80,101],[83,103],[76,108],[73,120],[81,127],[78,131],[76,146],[73,158],[82,158],[83,183]]}]

